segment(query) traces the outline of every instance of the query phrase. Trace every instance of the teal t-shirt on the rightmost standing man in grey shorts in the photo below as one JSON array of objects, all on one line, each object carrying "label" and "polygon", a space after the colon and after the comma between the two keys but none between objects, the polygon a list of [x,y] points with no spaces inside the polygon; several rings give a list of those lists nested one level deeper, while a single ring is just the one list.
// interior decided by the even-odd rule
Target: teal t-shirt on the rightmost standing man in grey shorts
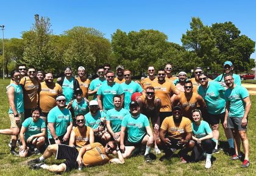
[{"label": "teal t-shirt on the rightmost standing man in grey shorts", "polygon": [[236,85],[234,89],[227,89],[224,95],[226,101],[229,101],[229,117],[242,118],[245,108],[243,99],[249,96],[248,90],[243,86]]}]

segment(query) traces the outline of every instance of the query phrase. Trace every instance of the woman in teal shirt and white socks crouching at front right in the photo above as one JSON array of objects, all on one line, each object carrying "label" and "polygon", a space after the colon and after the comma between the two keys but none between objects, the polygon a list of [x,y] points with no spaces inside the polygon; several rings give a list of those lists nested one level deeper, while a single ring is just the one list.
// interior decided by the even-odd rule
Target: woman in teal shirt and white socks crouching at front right
[{"label": "woman in teal shirt and white socks crouching at front right", "polygon": [[193,130],[193,140],[195,141],[195,146],[192,152],[192,160],[199,161],[203,153],[206,153],[205,168],[210,169],[212,166],[211,158],[214,147],[216,146],[215,141],[212,140],[213,132],[210,125],[201,120],[202,114],[199,109],[194,109],[192,111],[192,118],[194,122],[191,124]]}]

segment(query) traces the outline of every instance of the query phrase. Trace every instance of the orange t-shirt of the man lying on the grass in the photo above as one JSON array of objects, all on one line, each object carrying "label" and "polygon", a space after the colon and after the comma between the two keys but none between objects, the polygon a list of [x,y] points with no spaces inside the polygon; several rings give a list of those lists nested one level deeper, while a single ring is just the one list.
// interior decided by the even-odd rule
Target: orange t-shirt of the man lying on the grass
[{"label": "orange t-shirt of the man lying on the grass", "polygon": [[91,149],[86,151],[83,156],[83,163],[85,166],[95,166],[107,163],[111,159],[105,154],[104,146],[100,143],[90,144]]}]

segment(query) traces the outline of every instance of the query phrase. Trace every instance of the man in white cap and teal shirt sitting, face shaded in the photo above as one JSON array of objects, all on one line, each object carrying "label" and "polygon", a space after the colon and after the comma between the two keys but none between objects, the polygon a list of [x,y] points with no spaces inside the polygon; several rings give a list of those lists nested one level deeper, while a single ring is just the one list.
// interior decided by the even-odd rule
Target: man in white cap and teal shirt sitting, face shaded
[{"label": "man in white cap and teal shirt sitting, face shaded", "polygon": [[99,143],[107,143],[111,136],[106,131],[105,113],[99,110],[99,104],[96,100],[91,100],[89,110],[85,115],[85,125],[90,126],[94,132],[94,141]]}]

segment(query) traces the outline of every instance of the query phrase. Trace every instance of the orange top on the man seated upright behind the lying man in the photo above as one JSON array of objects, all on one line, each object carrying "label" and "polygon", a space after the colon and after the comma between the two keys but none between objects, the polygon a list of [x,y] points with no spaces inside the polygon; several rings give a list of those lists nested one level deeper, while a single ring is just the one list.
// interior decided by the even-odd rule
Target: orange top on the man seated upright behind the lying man
[{"label": "orange top on the man seated upright behind the lying man", "polygon": [[75,134],[75,144],[76,146],[83,147],[90,143],[90,126],[85,127],[84,134],[81,134],[78,127],[73,129]]}]

